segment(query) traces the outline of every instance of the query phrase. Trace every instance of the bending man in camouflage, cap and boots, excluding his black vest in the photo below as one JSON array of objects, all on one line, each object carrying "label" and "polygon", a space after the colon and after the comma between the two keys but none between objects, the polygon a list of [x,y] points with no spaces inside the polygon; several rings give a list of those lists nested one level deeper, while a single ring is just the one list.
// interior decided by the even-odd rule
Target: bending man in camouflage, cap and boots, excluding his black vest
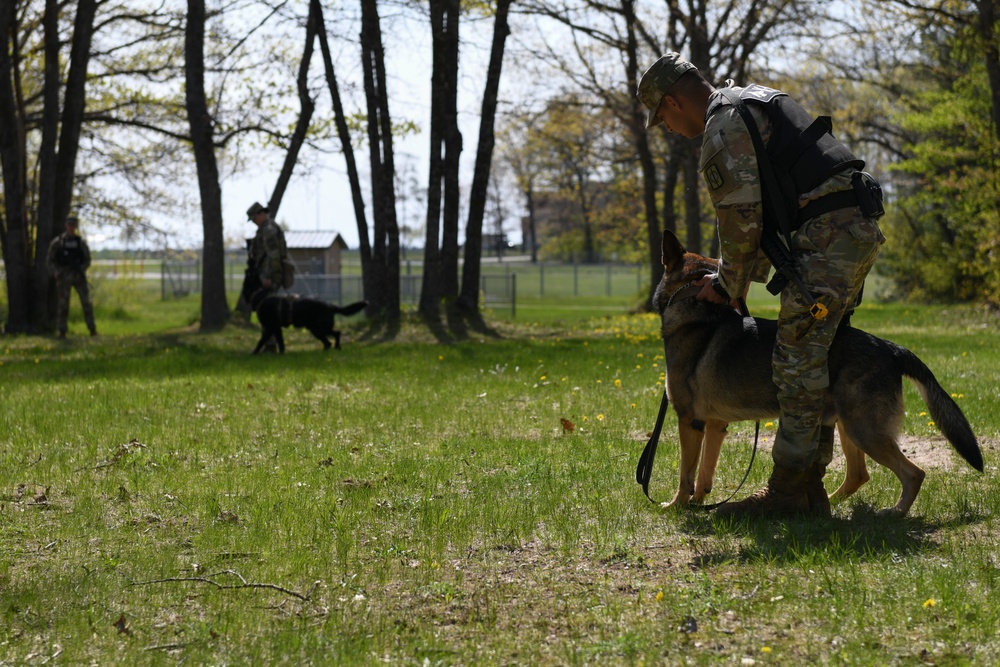
[{"label": "bending man in camouflage, cap and boots, excluding his black vest", "polygon": [[[732,88],[731,81],[727,87]],[[739,93],[743,89],[732,90]],[[699,281],[702,291],[698,298],[730,303],[733,297],[746,295],[751,281],[765,282],[771,269],[761,249],[762,187],[747,125],[729,100],[676,53],[663,56],[646,71],[638,96],[650,110],[647,128],[663,122],[668,131],[688,138],[704,135],[699,168],[718,217],[721,258],[718,274]],[[745,106],[767,145],[772,118],[759,104]],[[843,195],[852,190],[852,176],[858,168],[854,162],[846,164],[814,189],[799,193],[799,212],[828,195],[843,201]],[[803,217],[806,219],[791,235],[790,251],[812,299],[822,303],[829,314],[815,318],[810,313],[810,297],[794,283],[781,291],[772,357],[781,409],[772,450],[774,471],[765,489],[720,507],[723,515],[830,513],[822,480],[833,456],[833,428],[820,423],[830,383],[827,355],[841,320],[859,298],[885,237],[857,203],[822,210],[813,217],[799,216]]]}]

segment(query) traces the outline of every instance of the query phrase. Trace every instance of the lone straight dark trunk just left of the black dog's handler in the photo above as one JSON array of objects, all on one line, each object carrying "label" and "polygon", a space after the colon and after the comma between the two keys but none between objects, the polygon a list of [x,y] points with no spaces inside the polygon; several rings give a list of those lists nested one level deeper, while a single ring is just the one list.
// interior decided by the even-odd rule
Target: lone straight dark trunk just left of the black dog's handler
[{"label": "lone straight dark trunk just left of the black dog's handler", "polygon": [[225,247],[222,235],[222,189],[215,160],[213,121],[205,95],[205,1],[188,0],[184,35],[185,102],[201,195],[201,331],[221,329],[229,320],[226,301]]}]

